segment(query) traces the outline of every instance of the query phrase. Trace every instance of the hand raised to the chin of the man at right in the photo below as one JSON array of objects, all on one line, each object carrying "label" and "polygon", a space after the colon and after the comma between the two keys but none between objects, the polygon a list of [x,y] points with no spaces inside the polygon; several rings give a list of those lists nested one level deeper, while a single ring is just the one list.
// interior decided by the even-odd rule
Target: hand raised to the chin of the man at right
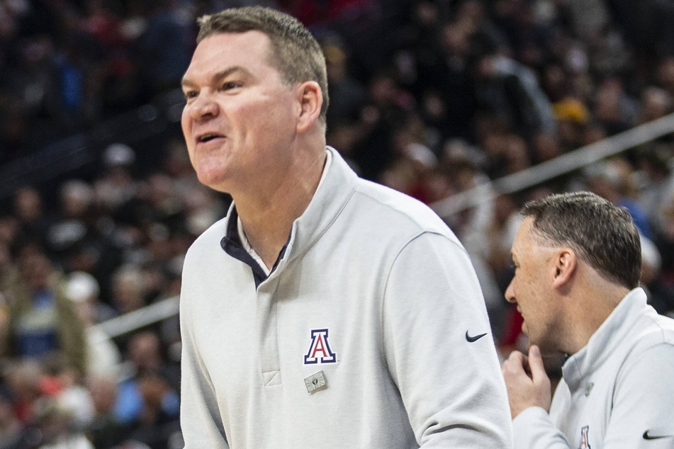
[{"label": "hand raised to the chin of the man at right", "polygon": [[543,358],[538,346],[529,348],[529,357],[519,351],[512,351],[501,366],[510,402],[513,419],[519,412],[529,407],[543,407],[550,411],[550,379],[543,367]]}]

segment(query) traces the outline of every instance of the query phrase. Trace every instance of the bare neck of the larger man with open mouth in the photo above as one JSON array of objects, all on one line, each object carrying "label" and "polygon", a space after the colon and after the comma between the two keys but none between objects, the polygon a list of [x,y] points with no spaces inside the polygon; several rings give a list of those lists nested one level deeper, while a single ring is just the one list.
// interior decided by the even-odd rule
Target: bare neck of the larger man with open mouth
[{"label": "bare neck of the larger man with open mouth", "polygon": [[313,198],[324,164],[325,151],[305,154],[294,159],[275,183],[267,182],[250,195],[232,195],[249,244],[267,268],[274,266],[293,222]]}]

